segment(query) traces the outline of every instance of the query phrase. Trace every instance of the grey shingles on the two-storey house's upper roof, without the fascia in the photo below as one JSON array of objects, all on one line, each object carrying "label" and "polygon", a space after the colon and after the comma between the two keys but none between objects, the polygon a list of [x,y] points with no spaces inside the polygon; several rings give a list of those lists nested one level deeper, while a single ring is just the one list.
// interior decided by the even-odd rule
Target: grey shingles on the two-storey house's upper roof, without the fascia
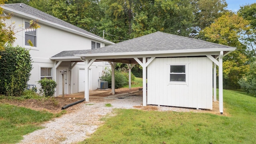
[{"label": "grey shingles on the two-storey house's upper roof, without the fascia", "polygon": [[[21,6],[20,6],[21,5]],[[60,20],[54,16],[51,16],[50,14],[46,14],[45,12],[42,12],[40,10],[37,10],[36,8],[33,8],[31,6],[28,6],[26,4],[23,4],[23,3],[17,3],[17,4],[4,4],[2,6],[2,8],[6,9],[6,10],[10,10],[10,11],[16,11],[17,13],[23,13],[27,16],[33,16],[35,18],[37,18],[39,21],[40,20],[46,20],[48,22],[52,22],[52,23],[55,23],[55,24],[58,24],[60,26],[64,26],[64,27],[67,27],[67,28],[71,28],[73,30],[76,30],[76,31],[79,31],[79,32],[82,32],[84,34],[88,34],[90,36],[94,36],[98,39],[101,39],[101,40],[105,40],[103,39],[102,37],[100,36],[97,36],[96,34],[92,34],[91,32],[88,32],[82,28],[78,28],[77,26],[74,26],[68,22],[65,22],[63,20]],[[105,40],[106,41],[106,40]],[[110,41],[109,41],[110,42]]]}]

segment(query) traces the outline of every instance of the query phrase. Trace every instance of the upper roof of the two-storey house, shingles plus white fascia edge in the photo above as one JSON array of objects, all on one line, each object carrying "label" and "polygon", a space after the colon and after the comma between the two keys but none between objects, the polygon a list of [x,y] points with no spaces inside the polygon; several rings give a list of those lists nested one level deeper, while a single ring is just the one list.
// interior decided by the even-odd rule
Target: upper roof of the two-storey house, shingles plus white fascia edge
[{"label": "upper roof of the two-storey house, shingles plus white fascia edge", "polygon": [[110,42],[109,40],[105,40],[104,38],[97,36],[96,34],[92,34],[91,32],[88,32],[82,28],[78,28],[77,26],[74,26],[68,22],[65,22],[64,20],[60,20],[54,16],[51,16],[50,14],[46,14],[45,12],[37,10],[36,8],[28,6],[24,3],[4,4],[1,7],[4,8],[4,10],[6,11],[18,14],[24,18],[39,20],[39,22],[46,23],[48,25],[50,24],[57,28],[62,28],[62,29],[64,28],[64,30],[70,30],[72,32],[76,32],[78,34],[84,35],[86,37],[99,40],[101,42],[106,42],[107,44],[114,44],[113,42]]}]

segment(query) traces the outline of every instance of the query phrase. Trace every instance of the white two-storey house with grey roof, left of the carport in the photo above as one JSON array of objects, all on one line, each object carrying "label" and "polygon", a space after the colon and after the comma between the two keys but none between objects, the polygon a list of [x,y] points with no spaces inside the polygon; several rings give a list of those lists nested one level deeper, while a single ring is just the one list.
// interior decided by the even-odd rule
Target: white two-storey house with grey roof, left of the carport
[{"label": "white two-storey house with grey roof, left of the carport", "polygon": [[[6,23],[14,23],[12,26],[17,30],[14,46],[19,45],[30,50],[33,69],[28,84],[40,87],[38,80],[45,77],[53,79],[58,84],[56,95],[62,94],[61,70],[66,71],[64,74],[65,94],[84,91],[84,62],[74,54],[68,55],[63,60],[54,60],[54,57],[61,57],[70,50],[75,54],[80,54],[80,52],[84,53],[91,49],[114,44],[23,3],[4,4],[1,7],[4,8],[3,14],[12,14],[12,18]],[[28,28],[30,20],[38,20],[41,28]],[[28,44],[28,40],[33,43],[33,46]],[[100,77],[106,66],[110,66],[108,62],[94,62],[90,67],[88,80],[91,90],[99,88]]]}]

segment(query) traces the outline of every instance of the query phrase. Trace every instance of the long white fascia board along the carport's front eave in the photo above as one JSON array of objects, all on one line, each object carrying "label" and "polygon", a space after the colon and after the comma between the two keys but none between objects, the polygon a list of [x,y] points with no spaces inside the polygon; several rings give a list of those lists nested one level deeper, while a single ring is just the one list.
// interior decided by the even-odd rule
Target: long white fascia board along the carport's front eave
[{"label": "long white fascia board along the carport's front eave", "polygon": [[198,53],[198,52],[220,52],[220,51],[234,51],[236,48],[211,48],[211,49],[196,49],[196,50],[163,50],[163,51],[149,51],[149,52],[116,52],[116,53],[100,53],[100,54],[75,54],[78,57],[87,56],[127,56],[127,55],[150,55],[150,54],[178,54],[178,53]]}]

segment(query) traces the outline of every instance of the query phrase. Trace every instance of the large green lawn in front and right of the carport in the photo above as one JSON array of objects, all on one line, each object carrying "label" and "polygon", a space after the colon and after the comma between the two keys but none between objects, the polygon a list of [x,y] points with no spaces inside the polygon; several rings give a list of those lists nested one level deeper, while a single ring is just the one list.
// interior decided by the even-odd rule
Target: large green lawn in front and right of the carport
[{"label": "large green lawn in front and right of the carport", "polygon": [[230,116],[116,109],[81,144],[256,144],[256,98],[224,90]]}]

